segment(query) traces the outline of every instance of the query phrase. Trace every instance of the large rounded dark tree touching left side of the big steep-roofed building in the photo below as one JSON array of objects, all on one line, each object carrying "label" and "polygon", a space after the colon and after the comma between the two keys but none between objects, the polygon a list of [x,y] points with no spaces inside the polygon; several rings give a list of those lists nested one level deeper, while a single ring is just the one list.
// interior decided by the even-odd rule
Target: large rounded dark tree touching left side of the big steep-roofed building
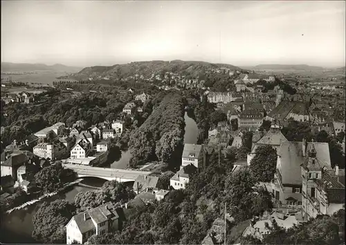
[{"label": "large rounded dark tree touching left side of the big steep-roofed building", "polygon": [[251,159],[251,173],[259,182],[271,182],[276,173],[277,154],[271,146],[259,146]]}]

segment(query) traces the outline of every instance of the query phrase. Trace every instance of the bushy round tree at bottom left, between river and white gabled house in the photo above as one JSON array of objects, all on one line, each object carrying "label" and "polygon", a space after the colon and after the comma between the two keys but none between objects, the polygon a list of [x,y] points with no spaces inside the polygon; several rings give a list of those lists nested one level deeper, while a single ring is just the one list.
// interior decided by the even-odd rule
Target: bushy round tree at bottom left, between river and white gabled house
[{"label": "bushy round tree at bottom left, between river and white gabled house", "polygon": [[64,226],[75,215],[75,206],[66,200],[44,202],[33,215],[33,237],[43,243],[64,243]]}]

